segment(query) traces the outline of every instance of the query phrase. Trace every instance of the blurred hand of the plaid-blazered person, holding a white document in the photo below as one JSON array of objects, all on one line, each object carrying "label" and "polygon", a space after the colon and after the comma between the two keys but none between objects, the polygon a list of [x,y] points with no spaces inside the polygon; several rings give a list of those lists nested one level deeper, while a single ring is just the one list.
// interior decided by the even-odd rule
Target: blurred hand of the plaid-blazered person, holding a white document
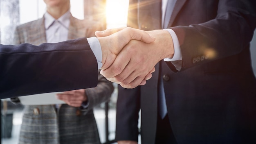
[{"label": "blurred hand of the plaid-blazered person, holding a white document", "polygon": [[56,97],[63,100],[67,105],[72,107],[80,107],[81,104],[87,100],[85,89],[72,90],[67,92],[58,93]]}]

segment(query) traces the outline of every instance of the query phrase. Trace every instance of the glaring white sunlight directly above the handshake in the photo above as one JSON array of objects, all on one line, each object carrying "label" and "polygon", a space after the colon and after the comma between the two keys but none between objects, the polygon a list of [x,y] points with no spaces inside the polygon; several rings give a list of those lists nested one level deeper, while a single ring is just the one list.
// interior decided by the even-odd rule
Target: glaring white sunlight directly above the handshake
[{"label": "glaring white sunlight directly above the handshake", "polygon": [[126,26],[129,0],[107,0],[107,28]]}]

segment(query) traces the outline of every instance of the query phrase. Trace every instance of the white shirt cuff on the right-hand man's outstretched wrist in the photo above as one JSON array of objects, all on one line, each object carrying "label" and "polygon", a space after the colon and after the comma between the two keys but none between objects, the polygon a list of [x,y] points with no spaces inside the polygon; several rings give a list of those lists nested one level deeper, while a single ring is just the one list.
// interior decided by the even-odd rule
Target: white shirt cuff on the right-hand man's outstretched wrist
[{"label": "white shirt cuff on the right-hand man's outstretched wrist", "polygon": [[182,54],[181,54],[180,44],[179,44],[179,40],[177,38],[177,35],[170,28],[166,28],[164,30],[166,30],[166,31],[168,31],[170,33],[170,35],[171,35],[171,37],[173,39],[173,46],[174,46],[173,58],[164,58],[164,61],[178,61],[178,60],[182,60]]}]

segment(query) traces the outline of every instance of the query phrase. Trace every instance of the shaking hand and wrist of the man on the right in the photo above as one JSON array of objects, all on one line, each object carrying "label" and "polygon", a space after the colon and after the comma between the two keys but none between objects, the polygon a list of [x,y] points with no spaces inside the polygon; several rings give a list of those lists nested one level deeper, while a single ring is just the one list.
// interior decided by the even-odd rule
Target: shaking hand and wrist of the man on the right
[{"label": "shaking hand and wrist of the man on the right", "polygon": [[[121,50],[112,65],[101,70],[101,74],[109,81],[119,83],[122,87],[134,88],[142,81],[145,82],[145,76],[153,70],[158,61],[173,57],[173,41],[168,31],[155,30],[147,33],[155,37],[155,41],[147,44],[131,40]],[[136,35],[136,33],[131,35]]]}]

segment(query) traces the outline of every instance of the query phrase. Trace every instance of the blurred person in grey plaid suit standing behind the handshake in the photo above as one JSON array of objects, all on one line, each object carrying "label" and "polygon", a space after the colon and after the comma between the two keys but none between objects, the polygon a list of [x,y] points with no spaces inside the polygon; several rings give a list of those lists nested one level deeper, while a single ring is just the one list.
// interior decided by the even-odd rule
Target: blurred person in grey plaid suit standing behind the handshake
[{"label": "blurred person in grey plaid suit standing behind the handshake", "polygon": [[[44,2],[47,11],[42,18],[16,28],[14,45],[39,45],[93,37],[94,31],[105,29],[85,26],[83,20],[73,17],[70,13],[70,0]],[[93,107],[109,100],[112,92],[112,83],[99,74],[97,87],[57,94],[57,98],[68,105],[26,105],[19,144],[100,144]],[[18,98],[11,100],[20,103]]]}]

